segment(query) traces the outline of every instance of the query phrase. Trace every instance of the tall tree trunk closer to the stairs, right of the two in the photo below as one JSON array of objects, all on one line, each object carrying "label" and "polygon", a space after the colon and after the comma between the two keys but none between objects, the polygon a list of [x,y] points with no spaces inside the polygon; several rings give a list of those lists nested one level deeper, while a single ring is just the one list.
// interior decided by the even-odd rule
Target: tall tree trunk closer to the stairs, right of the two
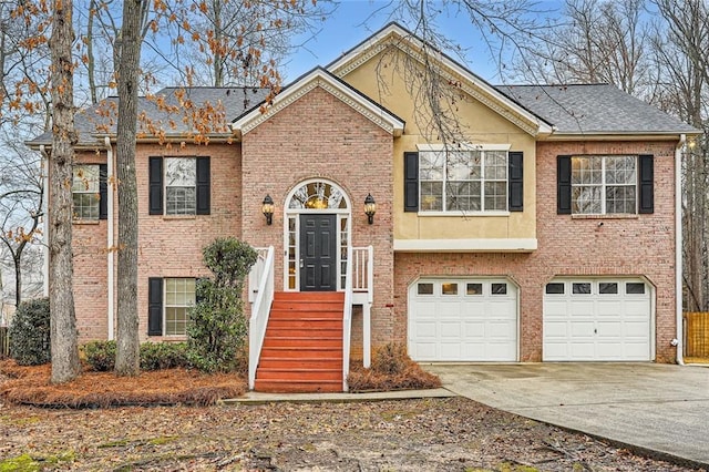
[{"label": "tall tree trunk closer to the stairs, right of the two", "polygon": [[123,3],[122,44],[117,71],[119,290],[115,371],[119,376],[137,376],[141,368],[137,317],[137,185],[135,181],[141,3],[142,0],[126,0]]}]

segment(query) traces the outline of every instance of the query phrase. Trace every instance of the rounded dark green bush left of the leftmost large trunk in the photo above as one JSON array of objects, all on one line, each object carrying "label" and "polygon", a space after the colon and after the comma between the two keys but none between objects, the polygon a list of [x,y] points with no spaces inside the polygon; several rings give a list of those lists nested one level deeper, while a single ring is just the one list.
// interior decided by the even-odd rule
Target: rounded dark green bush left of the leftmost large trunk
[{"label": "rounded dark green bush left of the leftmost large trunk", "polygon": [[20,366],[39,366],[50,362],[52,356],[49,298],[21,302],[8,336],[10,357]]}]

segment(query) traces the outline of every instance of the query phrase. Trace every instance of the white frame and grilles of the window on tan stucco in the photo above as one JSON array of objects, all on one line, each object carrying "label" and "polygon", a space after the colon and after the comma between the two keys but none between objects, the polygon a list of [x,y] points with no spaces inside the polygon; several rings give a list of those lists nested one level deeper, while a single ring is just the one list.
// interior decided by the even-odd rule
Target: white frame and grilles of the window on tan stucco
[{"label": "white frame and grilles of the window on tan stucco", "polygon": [[[444,153],[446,151],[446,146],[443,144],[418,144],[417,148],[419,151],[419,166],[421,164],[421,153],[434,152],[434,153]],[[480,211],[470,211],[470,209],[445,209],[446,207],[446,192],[445,186],[448,183],[448,166],[443,165],[443,181],[442,181],[442,209],[421,209],[421,202],[423,202],[423,195],[421,195],[421,182],[420,178],[420,168],[419,168],[419,212],[420,216],[451,216],[451,215],[481,215],[481,216],[508,216],[510,215],[510,172],[508,172],[508,163],[510,163],[510,150],[512,148],[511,144],[462,144],[456,146],[455,148],[448,147],[450,152],[472,152],[477,151],[482,153],[481,156],[481,177],[475,182],[480,182],[481,193],[480,193]],[[502,182],[499,178],[484,178],[485,175],[485,152],[487,151],[502,151],[506,154],[506,168],[505,168],[505,208],[504,209],[485,209],[485,182]],[[458,181],[456,181],[458,182]]]}]

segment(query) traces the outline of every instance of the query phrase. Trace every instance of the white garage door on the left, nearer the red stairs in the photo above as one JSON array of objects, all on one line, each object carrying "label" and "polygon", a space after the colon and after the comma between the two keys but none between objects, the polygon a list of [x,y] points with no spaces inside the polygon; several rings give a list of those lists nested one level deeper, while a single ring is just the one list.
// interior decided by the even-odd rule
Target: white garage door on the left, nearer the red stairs
[{"label": "white garage door on the left, nearer the red stairs", "polygon": [[505,279],[421,279],[409,288],[417,361],[517,360],[517,288]]}]

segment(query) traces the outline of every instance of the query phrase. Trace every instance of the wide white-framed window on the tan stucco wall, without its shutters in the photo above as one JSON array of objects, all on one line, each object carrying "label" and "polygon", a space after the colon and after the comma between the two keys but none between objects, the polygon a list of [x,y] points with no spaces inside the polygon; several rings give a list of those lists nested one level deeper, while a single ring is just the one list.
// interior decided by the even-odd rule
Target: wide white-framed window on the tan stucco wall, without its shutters
[{"label": "wide white-framed window on the tan stucco wall, without its shutters", "polygon": [[419,212],[508,209],[507,151],[420,151],[418,167]]}]

